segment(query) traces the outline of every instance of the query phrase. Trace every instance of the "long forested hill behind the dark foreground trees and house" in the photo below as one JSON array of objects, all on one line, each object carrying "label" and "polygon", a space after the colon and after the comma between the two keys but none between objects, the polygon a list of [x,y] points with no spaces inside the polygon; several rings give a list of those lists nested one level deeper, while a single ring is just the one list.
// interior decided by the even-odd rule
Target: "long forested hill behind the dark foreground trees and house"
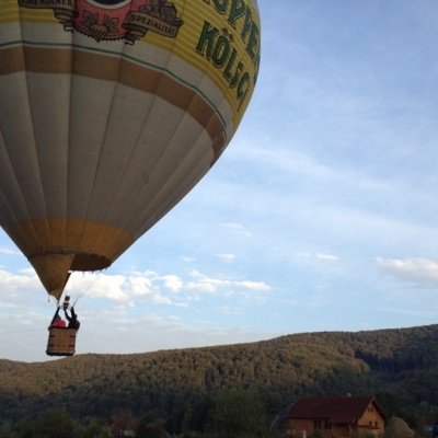
[{"label": "long forested hill behind the dark foreground trees and house", "polygon": [[231,389],[256,390],[273,410],[298,395],[345,393],[389,394],[405,408],[438,405],[438,325],[37,364],[0,360],[0,412],[11,420],[53,406],[76,417],[107,418],[120,408],[169,417]]}]

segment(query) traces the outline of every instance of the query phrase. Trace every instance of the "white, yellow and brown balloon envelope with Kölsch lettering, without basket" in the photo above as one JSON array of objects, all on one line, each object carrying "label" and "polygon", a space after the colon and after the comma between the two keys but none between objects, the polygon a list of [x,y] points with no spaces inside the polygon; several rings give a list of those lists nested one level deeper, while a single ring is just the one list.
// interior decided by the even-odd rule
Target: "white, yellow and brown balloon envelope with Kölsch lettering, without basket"
[{"label": "white, yellow and brown balloon envelope with K\u00f6lsch lettering, without basket", "polygon": [[50,295],[205,175],[258,62],[255,0],[0,0],[0,224]]}]

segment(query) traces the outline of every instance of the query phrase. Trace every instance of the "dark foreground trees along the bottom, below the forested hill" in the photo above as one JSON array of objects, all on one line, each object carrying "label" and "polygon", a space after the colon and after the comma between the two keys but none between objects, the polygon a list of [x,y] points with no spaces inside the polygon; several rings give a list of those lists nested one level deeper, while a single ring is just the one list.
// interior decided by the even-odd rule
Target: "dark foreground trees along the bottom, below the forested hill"
[{"label": "dark foreground trees along the bottom, below the forested hill", "polygon": [[[404,416],[416,437],[427,437],[423,427],[438,406],[422,404],[417,416],[400,406],[394,394],[378,394],[390,417]],[[205,399],[196,406],[185,406],[177,415],[164,419],[149,412],[135,417],[130,411],[116,412],[108,420],[96,417],[73,418],[64,407],[48,408],[37,418],[28,416],[18,423],[0,422],[0,438],[110,438],[125,437],[127,430],[137,438],[280,438],[273,428],[272,404],[257,391],[232,390]],[[318,433],[309,438],[320,438]]]}]

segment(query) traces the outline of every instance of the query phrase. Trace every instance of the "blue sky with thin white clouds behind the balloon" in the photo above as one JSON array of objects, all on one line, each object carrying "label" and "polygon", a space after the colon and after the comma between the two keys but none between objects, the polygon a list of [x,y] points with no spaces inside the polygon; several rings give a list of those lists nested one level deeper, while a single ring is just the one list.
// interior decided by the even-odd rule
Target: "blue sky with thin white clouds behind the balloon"
[{"label": "blue sky with thin white clouds behind the balloon", "polygon": [[[438,323],[438,2],[258,8],[238,132],[113,266],[73,276],[77,354]],[[0,230],[0,358],[54,360],[55,309]]]}]

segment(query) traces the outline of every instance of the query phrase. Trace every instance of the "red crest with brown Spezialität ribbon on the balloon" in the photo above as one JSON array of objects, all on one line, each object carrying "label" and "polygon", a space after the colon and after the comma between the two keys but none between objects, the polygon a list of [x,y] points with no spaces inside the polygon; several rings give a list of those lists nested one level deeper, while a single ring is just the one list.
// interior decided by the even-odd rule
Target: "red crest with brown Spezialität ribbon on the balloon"
[{"label": "red crest with brown Spezialit\u00e4t ribbon on the balloon", "polygon": [[19,0],[23,8],[51,9],[65,31],[134,44],[148,31],[174,38],[183,21],[168,0]]}]

